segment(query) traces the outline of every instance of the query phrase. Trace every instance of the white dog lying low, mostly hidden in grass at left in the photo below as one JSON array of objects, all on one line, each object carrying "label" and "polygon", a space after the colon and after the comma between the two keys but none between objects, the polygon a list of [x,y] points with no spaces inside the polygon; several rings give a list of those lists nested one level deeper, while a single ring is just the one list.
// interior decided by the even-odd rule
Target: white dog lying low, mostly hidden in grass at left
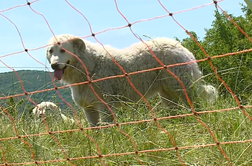
[{"label": "white dog lying low, mostly hidden in grass at left", "polygon": [[61,113],[60,108],[54,104],[53,102],[42,102],[38,104],[35,108],[33,108],[32,113],[35,115],[36,118],[40,117],[42,114],[46,113],[46,110],[52,110],[52,111],[59,111],[61,118],[65,122],[71,122],[74,123],[74,119],[66,117],[64,114]]}]

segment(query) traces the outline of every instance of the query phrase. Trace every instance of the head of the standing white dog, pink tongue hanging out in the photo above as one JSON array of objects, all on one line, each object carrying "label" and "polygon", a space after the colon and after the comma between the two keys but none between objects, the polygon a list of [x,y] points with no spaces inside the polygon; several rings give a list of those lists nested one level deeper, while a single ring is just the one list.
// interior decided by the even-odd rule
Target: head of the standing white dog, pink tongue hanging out
[{"label": "head of the standing white dog, pink tongue hanging out", "polygon": [[54,70],[54,77],[61,80],[76,61],[80,51],[86,49],[82,39],[72,35],[59,35],[49,41],[46,56]]}]

